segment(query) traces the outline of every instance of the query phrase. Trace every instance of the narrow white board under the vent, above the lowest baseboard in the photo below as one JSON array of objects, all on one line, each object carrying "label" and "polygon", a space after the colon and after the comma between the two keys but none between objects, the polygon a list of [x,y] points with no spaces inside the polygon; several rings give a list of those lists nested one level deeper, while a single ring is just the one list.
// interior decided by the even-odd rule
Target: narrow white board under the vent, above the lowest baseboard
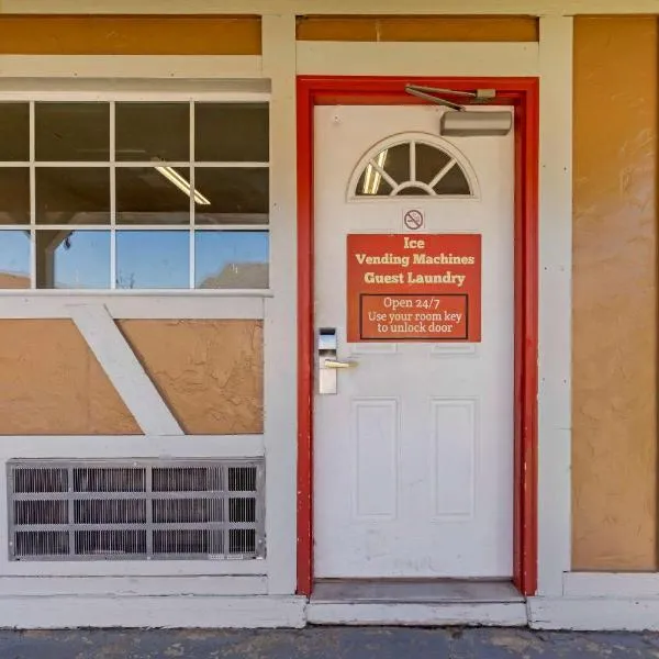
[{"label": "narrow white board under the vent, above the lowest baseboard", "polygon": [[[0,577],[3,597],[114,595],[265,595],[268,580],[259,576],[217,577]],[[1,624],[1,623],[0,623]]]}]

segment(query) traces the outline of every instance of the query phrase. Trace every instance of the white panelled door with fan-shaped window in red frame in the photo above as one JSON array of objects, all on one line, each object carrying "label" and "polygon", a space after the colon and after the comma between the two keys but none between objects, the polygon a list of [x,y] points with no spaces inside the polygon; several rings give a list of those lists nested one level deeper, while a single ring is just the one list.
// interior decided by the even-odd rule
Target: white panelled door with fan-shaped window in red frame
[{"label": "white panelled door with fan-shaped window in red frame", "polygon": [[[315,323],[356,364],[316,381],[316,578],[512,574],[514,138],[440,138],[443,111],[315,110]],[[346,236],[407,210],[481,235],[480,343],[346,342]]]}]

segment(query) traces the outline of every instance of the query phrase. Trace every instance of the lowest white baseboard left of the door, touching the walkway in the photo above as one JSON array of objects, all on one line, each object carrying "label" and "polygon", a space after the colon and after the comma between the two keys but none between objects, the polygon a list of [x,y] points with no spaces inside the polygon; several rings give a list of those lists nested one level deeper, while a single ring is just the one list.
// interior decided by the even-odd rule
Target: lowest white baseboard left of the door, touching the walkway
[{"label": "lowest white baseboard left of the door, touching the walkway", "polygon": [[0,626],[16,629],[303,627],[304,597],[1,596]]}]

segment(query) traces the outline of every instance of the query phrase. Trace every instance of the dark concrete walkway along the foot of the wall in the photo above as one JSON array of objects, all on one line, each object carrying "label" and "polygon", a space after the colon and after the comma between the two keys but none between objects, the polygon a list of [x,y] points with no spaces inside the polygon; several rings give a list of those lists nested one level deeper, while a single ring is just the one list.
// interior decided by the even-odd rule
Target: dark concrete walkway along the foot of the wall
[{"label": "dark concrete walkway along the foot of the wall", "polygon": [[1,659],[659,659],[659,634],[526,629],[0,632]]}]

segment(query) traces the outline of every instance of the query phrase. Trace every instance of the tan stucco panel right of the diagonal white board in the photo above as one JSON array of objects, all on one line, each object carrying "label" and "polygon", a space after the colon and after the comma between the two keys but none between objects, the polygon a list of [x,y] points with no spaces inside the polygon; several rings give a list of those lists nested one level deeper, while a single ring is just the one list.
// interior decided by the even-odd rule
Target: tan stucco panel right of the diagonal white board
[{"label": "tan stucco panel right of the diagonal white board", "polygon": [[260,321],[120,321],[186,433],[263,433]]}]

